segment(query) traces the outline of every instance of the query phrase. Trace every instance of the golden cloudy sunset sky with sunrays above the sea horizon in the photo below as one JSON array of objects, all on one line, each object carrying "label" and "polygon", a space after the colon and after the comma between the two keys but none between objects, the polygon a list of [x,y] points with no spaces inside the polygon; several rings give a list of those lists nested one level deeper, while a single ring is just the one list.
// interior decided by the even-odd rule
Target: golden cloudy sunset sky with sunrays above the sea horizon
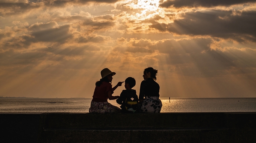
[{"label": "golden cloudy sunset sky with sunrays above the sea horizon", "polygon": [[147,67],[160,97],[256,97],[256,0],[0,0],[0,96],[92,98],[103,68],[139,95]]}]

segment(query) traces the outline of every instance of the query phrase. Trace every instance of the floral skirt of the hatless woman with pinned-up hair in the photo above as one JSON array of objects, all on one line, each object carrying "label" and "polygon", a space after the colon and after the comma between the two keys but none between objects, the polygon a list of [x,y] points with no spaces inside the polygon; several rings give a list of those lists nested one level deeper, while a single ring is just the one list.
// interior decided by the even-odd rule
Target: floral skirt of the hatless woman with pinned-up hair
[{"label": "floral skirt of the hatless woman with pinned-up hair", "polygon": [[141,104],[141,112],[143,113],[160,113],[162,102],[159,97],[145,96]]}]

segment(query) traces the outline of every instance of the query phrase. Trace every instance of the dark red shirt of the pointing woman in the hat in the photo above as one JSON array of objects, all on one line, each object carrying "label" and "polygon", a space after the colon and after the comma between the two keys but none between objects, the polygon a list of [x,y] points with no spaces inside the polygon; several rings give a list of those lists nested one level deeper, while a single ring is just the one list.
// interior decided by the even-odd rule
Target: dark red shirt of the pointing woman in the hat
[{"label": "dark red shirt of the pointing woman in the hat", "polygon": [[95,87],[95,90],[92,96],[92,101],[107,102],[108,91],[111,91],[112,94],[114,93],[111,83],[103,81],[100,86]]}]

